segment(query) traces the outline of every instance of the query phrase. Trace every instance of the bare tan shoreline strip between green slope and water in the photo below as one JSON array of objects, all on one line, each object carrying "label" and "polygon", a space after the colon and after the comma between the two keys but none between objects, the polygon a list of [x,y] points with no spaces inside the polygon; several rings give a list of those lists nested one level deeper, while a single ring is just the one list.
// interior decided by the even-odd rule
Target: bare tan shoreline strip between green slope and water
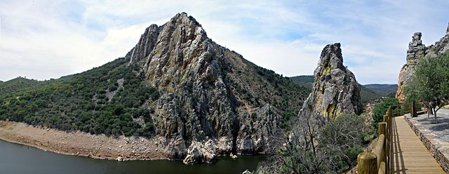
[{"label": "bare tan shoreline strip between green slope and water", "polygon": [[[116,161],[168,159],[164,138],[91,135],[39,128],[15,121],[0,121],[0,140],[72,156]],[[168,159],[170,160],[170,159]]]}]

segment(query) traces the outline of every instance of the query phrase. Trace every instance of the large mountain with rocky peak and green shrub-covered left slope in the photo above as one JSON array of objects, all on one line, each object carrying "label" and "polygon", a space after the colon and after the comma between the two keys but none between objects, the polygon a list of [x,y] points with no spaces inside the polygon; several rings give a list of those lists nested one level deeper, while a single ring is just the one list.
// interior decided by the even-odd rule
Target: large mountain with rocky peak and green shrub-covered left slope
[{"label": "large mountain with rocky peak and green shrub-covered left slope", "polygon": [[149,26],[125,58],[60,79],[32,81],[32,87],[22,81],[27,80],[2,87],[2,93],[13,93],[0,95],[0,119],[161,137],[166,157],[185,163],[231,152],[270,152],[279,144],[272,137],[279,135],[281,123],[299,112],[309,94],[208,39],[186,13]]}]

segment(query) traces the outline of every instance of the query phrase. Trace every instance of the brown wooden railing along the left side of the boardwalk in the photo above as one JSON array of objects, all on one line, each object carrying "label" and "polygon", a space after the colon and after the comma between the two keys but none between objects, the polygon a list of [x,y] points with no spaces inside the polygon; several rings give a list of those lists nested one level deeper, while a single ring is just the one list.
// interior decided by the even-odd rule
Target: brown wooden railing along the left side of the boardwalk
[{"label": "brown wooden railing along the left side of the boardwalk", "polygon": [[422,103],[416,104],[412,102],[410,105],[400,104],[391,105],[387,109],[382,122],[378,123],[378,139],[373,152],[361,152],[357,156],[358,173],[391,173],[390,167],[393,165],[393,153],[391,151],[391,140],[393,135],[391,133],[392,125],[391,118],[401,116],[404,114],[412,114],[417,116],[417,113],[425,112]]}]

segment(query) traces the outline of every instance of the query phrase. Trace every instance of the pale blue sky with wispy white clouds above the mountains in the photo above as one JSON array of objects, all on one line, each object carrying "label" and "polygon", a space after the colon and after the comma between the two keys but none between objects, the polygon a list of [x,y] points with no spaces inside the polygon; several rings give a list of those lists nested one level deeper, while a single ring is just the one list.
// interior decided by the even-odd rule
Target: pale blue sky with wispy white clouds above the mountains
[{"label": "pale blue sky with wispy white clouds above the mountains", "polygon": [[0,0],[0,80],[57,79],[121,58],[151,24],[186,12],[217,44],[283,76],[313,74],[341,43],[359,83],[397,83],[408,43],[444,36],[449,1]]}]

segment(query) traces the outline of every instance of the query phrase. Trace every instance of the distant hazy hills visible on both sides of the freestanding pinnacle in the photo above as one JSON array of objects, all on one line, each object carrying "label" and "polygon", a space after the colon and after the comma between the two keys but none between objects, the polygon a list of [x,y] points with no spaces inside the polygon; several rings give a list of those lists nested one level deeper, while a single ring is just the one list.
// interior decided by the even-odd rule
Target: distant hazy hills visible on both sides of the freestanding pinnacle
[{"label": "distant hazy hills visible on both sides of the freestanding pinnacle", "polygon": [[[292,76],[289,79],[293,81],[293,83],[297,83],[300,86],[304,86],[309,90],[311,90],[311,88],[314,86],[313,75]],[[397,84],[366,84],[361,85],[360,95],[363,102],[370,102],[372,100],[386,97],[389,95],[394,96],[397,90],[398,90]]]}]

